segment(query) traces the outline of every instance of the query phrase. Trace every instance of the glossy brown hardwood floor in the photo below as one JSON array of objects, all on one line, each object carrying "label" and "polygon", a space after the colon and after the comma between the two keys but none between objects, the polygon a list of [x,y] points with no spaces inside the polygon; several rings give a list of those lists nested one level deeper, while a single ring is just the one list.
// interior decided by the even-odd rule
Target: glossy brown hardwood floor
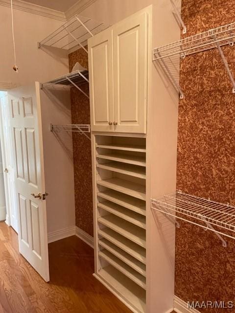
[{"label": "glossy brown hardwood floor", "polygon": [[75,236],[49,244],[50,282],[18,250],[0,223],[0,313],[131,313],[94,277],[93,249]]}]

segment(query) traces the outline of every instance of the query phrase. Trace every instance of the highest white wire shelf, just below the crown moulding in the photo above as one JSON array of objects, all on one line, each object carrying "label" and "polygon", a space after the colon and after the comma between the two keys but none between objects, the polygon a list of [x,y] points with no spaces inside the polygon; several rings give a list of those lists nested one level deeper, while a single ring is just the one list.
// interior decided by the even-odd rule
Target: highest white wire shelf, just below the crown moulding
[{"label": "highest white wire shelf, just below the crown moulding", "polygon": [[107,27],[108,26],[103,22],[97,22],[87,17],[74,15],[69,21],[42,40],[38,46],[39,48],[42,46],[51,46],[65,50],[71,50],[77,45],[84,48],[90,37]]}]

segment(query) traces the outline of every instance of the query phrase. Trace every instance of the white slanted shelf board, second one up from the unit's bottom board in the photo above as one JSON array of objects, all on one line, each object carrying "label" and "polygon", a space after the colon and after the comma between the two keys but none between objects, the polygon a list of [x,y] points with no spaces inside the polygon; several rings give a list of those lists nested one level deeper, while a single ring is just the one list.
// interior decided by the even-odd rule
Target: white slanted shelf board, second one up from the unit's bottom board
[{"label": "white slanted shelf board, second one up from the unit's bottom board", "polygon": [[133,258],[130,254],[118,248],[118,246],[112,244],[110,241],[108,241],[105,238],[100,239],[98,243],[104,249],[114,254],[118,259],[126,263],[131,268],[135,269],[144,277],[146,277],[146,266],[143,263]]}]

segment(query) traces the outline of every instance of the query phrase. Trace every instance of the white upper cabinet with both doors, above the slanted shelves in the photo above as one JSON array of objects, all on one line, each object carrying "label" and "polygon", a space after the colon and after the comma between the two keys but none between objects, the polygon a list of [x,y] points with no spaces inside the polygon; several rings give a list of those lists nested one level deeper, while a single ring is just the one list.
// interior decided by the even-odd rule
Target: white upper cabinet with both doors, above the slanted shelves
[{"label": "white upper cabinet with both doors, above the slanted shelves", "polygon": [[148,13],[88,41],[92,131],[146,133]]}]

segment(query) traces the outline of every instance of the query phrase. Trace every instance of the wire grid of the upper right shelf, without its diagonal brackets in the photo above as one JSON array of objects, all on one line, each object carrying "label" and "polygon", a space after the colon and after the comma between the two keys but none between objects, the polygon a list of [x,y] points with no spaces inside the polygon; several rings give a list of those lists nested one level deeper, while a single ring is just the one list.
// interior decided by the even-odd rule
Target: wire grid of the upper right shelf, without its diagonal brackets
[{"label": "wire grid of the upper right shelf, without its diagonal brackets", "polygon": [[235,22],[210,29],[203,33],[193,35],[176,41],[174,43],[163,45],[153,49],[153,61],[165,57],[180,54],[186,55],[216,48],[219,45],[234,45],[235,41]]}]

